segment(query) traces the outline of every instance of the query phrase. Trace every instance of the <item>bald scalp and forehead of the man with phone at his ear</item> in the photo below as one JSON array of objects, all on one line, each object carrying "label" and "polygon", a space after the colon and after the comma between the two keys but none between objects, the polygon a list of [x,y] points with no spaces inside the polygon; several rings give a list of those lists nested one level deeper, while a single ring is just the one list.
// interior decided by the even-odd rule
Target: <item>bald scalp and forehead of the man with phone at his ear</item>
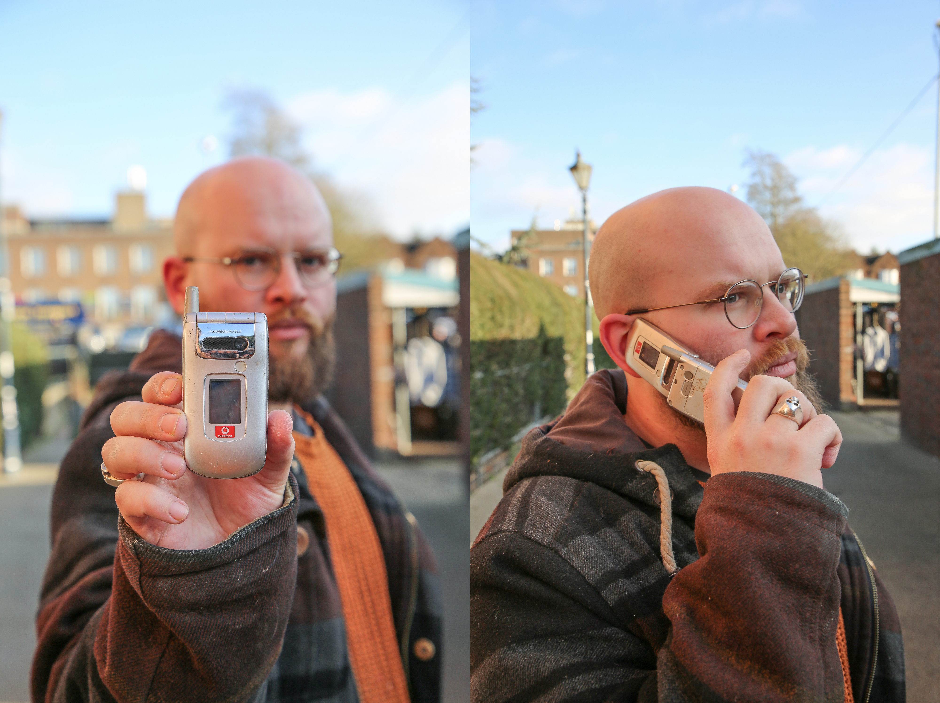
[{"label": "bald scalp and forehead of the man with phone at his ear", "polygon": [[733,284],[773,269],[776,261],[768,261],[775,257],[780,253],[770,229],[738,198],[714,188],[670,188],[604,222],[591,246],[591,297],[601,320],[629,309],[691,303],[682,295],[693,292],[682,284],[693,278],[717,283],[723,276]]}]

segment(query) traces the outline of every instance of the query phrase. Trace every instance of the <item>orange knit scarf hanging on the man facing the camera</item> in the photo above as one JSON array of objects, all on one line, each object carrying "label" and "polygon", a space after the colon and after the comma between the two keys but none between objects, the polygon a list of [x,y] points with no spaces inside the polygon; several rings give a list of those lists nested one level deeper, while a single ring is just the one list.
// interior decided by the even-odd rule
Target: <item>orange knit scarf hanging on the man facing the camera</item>
[{"label": "orange knit scarf hanging on the man facing the camera", "polygon": [[293,432],[295,452],[310,492],[323,511],[330,559],[337,576],[346,646],[362,703],[408,703],[382,545],[366,501],[346,464],[317,422],[297,412],[315,436]]}]

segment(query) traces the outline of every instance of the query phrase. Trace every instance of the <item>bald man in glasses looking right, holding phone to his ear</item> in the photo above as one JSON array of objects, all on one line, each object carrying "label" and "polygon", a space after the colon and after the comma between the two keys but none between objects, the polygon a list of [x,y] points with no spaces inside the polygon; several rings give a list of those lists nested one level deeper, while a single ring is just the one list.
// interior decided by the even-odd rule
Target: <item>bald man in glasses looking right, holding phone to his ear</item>
[{"label": "bald man in glasses looking right, holding phone to his ear", "polygon": [[[472,698],[904,700],[894,604],[823,487],[841,434],[793,316],[802,273],[760,215],[650,195],[603,224],[589,276],[619,368],[529,432],[473,546]],[[636,320],[716,366],[703,424],[628,366]]]}]

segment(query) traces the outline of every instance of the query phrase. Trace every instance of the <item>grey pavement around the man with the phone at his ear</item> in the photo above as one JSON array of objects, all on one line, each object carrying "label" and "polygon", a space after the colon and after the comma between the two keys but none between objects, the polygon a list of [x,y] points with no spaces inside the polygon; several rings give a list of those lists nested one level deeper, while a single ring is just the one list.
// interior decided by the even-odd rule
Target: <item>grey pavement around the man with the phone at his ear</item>
[{"label": "grey pavement around the man with the phone at his ear", "polygon": [[[907,699],[940,701],[940,461],[900,441],[898,412],[832,413],[844,444],[823,472],[850,509],[901,616]],[[471,540],[502,497],[505,472],[470,496]]]}]

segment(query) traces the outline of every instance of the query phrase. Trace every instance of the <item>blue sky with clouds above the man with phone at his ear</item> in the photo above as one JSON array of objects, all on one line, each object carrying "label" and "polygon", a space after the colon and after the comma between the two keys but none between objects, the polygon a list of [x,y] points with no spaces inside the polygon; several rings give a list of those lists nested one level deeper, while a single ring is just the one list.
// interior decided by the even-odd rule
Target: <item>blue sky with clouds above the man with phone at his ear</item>
[{"label": "blue sky with clouds above the man with phone at his ear", "polygon": [[[598,223],[678,185],[747,180],[745,149],[776,153],[808,205],[859,251],[932,237],[932,89],[825,197],[937,72],[940,4],[905,0],[513,3],[472,0],[474,235],[580,211],[574,150],[594,166]],[[744,195],[743,189],[739,195]]]}]

